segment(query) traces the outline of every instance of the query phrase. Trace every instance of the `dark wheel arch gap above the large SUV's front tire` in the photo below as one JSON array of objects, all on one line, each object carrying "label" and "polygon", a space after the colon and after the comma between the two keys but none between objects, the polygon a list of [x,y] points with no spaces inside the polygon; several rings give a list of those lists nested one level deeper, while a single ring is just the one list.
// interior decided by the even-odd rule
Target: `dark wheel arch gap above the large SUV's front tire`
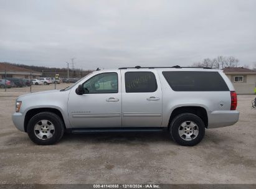
[{"label": "dark wheel arch gap above the large SUV's front tire", "polygon": [[27,124],[28,124],[29,120],[36,114],[42,113],[42,112],[50,112],[50,113],[57,114],[57,116],[59,116],[60,119],[62,119],[62,121],[64,123],[64,127],[66,129],[64,117],[59,109],[56,109],[56,108],[33,108],[33,109],[29,109],[29,111],[27,111],[27,113],[25,115],[25,119],[24,119],[24,131],[25,132],[27,132]]}]

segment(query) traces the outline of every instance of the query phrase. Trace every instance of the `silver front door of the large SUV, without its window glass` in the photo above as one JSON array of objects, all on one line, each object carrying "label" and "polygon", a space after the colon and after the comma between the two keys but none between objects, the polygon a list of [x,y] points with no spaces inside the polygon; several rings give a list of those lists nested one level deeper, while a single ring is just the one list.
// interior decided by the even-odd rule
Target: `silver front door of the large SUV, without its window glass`
[{"label": "silver front door of the large SUV, without its window glass", "polygon": [[[96,71],[87,80],[101,73],[116,73],[118,75],[118,93],[78,95],[75,93],[76,88],[72,88],[69,95],[68,111],[73,128],[121,126],[120,70]],[[80,81],[78,85],[85,81]],[[116,101],[111,101],[111,99],[116,99]]]}]

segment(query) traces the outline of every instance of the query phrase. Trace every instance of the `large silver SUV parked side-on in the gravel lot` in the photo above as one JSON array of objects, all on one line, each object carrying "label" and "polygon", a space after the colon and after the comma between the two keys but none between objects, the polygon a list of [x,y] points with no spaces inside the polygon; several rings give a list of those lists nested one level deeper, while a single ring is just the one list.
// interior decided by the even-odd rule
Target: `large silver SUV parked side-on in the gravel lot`
[{"label": "large silver SUV parked side-on in the gravel lot", "polygon": [[178,144],[196,145],[205,128],[235,124],[236,107],[221,70],[135,67],[97,70],[63,90],[19,96],[12,121],[40,145],[54,144],[64,131],[161,130]]}]

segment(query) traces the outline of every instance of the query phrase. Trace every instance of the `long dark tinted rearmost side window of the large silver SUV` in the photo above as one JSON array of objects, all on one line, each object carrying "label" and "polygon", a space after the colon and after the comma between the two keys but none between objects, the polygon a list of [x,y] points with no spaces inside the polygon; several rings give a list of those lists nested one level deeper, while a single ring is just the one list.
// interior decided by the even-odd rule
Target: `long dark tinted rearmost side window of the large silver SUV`
[{"label": "long dark tinted rearmost side window of the large silver SUV", "polygon": [[217,71],[163,71],[174,91],[229,91]]}]

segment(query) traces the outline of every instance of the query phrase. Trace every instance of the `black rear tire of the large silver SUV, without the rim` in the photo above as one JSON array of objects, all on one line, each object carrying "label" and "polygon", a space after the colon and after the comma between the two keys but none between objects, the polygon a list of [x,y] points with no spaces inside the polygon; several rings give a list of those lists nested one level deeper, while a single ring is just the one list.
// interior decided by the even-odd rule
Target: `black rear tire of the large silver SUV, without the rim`
[{"label": "black rear tire of the large silver SUV, without the rim", "polygon": [[[189,122],[194,122],[198,127],[198,135],[194,137],[194,139],[191,139],[191,141],[186,141],[186,139],[184,139],[186,135],[184,135],[185,137],[179,135],[180,126],[184,122],[187,122],[187,124],[190,124]],[[202,121],[201,118],[199,118],[199,116],[196,116],[195,114],[191,113],[183,113],[179,114],[171,121],[169,132],[171,134],[173,141],[177,142],[178,144],[185,146],[193,146],[201,142],[202,139],[204,138],[205,126],[204,122]],[[192,132],[194,132],[194,129]]]}]

